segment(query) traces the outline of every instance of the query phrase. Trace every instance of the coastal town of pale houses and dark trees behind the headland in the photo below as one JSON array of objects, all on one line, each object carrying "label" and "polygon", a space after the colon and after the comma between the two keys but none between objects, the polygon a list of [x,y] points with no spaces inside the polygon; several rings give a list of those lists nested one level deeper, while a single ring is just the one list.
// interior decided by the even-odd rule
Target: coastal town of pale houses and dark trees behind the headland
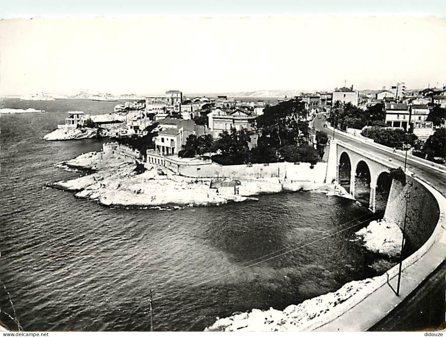
[{"label": "coastal town of pale houses and dark trees behind the headland", "polygon": [[[279,121],[269,118],[281,110]],[[277,104],[263,99],[244,102],[226,95],[186,97],[181,91],[169,90],[164,95],[117,104],[113,112],[105,115],[70,112],[66,123],[43,139],[110,137],[138,150],[138,159],[170,166],[173,160],[195,156],[223,165],[284,159],[315,163],[323,152],[319,151],[320,158],[311,154],[299,158],[298,147],[307,146],[312,148],[310,152],[316,152],[318,146],[320,150],[326,145],[326,139],[318,142],[311,129],[311,121],[322,113],[339,130],[396,149],[407,143],[414,155],[442,163],[442,149],[429,148],[429,144],[435,145],[429,137],[434,137],[436,131],[439,137],[441,128],[444,132],[445,111],[446,86],[408,90],[405,83],[396,83],[387,89],[366,92],[344,86],[332,92],[285,96]],[[272,132],[274,128],[277,132]],[[292,134],[287,134],[289,139],[282,144],[280,133]],[[227,144],[216,146],[222,136],[231,134],[235,141],[243,138],[238,158],[222,153]],[[390,141],[385,136],[398,140]],[[277,141],[271,142],[275,137]],[[204,147],[198,144],[203,141]],[[203,158],[204,154],[207,157]]]}]

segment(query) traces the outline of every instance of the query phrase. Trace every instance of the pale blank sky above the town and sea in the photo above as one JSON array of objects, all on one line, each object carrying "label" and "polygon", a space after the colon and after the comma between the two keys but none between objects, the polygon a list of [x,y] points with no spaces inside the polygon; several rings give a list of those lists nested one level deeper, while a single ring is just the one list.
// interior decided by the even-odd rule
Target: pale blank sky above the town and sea
[{"label": "pale blank sky above the town and sea", "polygon": [[0,94],[331,90],[344,81],[360,90],[446,85],[446,20],[425,17],[429,11],[417,17],[91,13],[0,21]]}]

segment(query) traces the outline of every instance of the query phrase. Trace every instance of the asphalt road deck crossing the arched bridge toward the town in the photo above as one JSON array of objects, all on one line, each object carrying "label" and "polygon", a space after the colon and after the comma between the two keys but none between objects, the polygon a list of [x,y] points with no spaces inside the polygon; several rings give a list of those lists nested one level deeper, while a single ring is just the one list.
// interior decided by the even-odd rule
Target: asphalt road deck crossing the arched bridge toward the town
[{"label": "asphalt road deck crossing the arched bridge toward the town", "polygon": [[[318,116],[314,119],[314,127],[316,130],[325,133],[331,138],[333,137],[333,131],[324,127],[327,122],[322,115],[322,113],[318,114]],[[375,146],[364,144],[360,141],[352,139],[351,137],[344,136],[343,134],[337,132],[337,130],[335,131],[335,139],[343,141],[347,144],[351,144],[352,146],[356,146],[357,148],[367,151],[368,153],[380,155],[381,158],[387,158],[387,160],[392,159],[393,163],[404,168],[404,158],[401,158],[397,154],[392,154],[387,151],[378,149]],[[418,179],[429,183],[432,187],[437,189],[440,193],[442,193],[443,196],[446,197],[445,173],[442,173],[428,166],[424,166],[419,162],[410,159],[409,157],[407,158],[407,170],[412,171]]]}]

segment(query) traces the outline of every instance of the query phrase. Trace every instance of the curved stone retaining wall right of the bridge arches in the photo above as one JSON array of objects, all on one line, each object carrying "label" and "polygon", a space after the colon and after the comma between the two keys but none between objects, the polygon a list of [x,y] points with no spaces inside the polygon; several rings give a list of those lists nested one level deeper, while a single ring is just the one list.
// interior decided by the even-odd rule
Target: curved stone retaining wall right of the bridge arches
[{"label": "curved stone retaining wall right of the bridge arches", "polygon": [[404,226],[406,214],[406,237],[414,249],[419,249],[434,232],[440,209],[434,196],[413,178],[407,176],[403,187],[393,180],[387,202],[384,218],[388,222],[396,223],[401,230]]}]

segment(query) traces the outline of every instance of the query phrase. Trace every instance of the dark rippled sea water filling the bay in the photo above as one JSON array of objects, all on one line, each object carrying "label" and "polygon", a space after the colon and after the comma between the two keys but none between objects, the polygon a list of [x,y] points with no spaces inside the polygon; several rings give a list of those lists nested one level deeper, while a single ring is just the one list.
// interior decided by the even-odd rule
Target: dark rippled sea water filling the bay
[{"label": "dark rippled sea water filling the bay", "polygon": [[350,241],[365,224],[310,244],[371,216],[351,200],[297,192],[219,207],[126,210],[45,188],[80,175],[54,164],[99,150],[102,141],[39,137],[66,111],[105,113],[115,104],[5,100],[6,108],[47,111],[1,116],[0,275],[24,329],[148,330],[152,290],[155,330],[202,330],[217,316],[283,309],[374,275],[370,257]]}]

